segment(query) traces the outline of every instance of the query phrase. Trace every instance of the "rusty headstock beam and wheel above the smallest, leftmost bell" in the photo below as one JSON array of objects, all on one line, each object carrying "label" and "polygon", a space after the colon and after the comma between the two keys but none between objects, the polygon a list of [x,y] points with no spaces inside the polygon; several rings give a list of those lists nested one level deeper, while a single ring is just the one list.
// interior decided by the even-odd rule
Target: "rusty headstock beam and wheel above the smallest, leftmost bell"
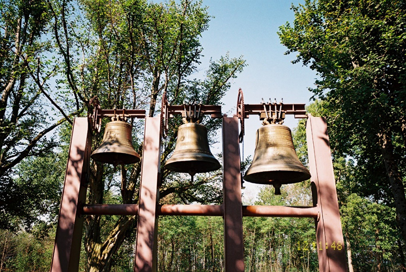
[{"label": "rusty headstock beam and wheel above the smallest, leftmost bell", "polygon": [[117,120],[125,121],[127,118],[145,118],[145,110],[127,110],[127,109],[111,109],[102,110],[97,96],[90,99],[89,105],[93,106],[93,113],[88,113],[87,116],[91,122],[92,131],[99,133],[101,129],[101,119],[110,117]]}]

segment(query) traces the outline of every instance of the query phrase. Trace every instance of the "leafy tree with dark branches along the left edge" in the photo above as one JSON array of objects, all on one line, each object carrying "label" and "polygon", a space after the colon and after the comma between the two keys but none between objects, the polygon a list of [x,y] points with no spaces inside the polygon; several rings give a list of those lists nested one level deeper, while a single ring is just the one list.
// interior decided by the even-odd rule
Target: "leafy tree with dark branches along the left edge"
[{"label": "leafy tree with dark branches along the left edge", "polygon": [[1,228],[16,228],[18,217],[35,219],[29,206],[38,203],[39,195],[32,195],[35,188],[28,182],[14,179],[20,172],[16,166],[52,152],[57,141],[46,135],[65,121],[72,123],[80,112],[61,106],[56,98],[66,96],[53,92],[58,65],[49,23],[46,1],[0,1]]}]

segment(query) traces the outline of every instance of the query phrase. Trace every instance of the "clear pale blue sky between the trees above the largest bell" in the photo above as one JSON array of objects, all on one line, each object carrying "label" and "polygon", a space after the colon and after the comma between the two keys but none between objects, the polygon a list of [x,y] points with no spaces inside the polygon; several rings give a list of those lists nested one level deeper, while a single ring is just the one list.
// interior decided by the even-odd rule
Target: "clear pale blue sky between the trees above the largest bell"
[{"label": "clear pale blue sky between the trees above the largest bell", "polygon": [[[243,55],[248,66],[233,80],[232,86],[223,99],[223,112],[235,112],[238,89],[242,88],[246,104],[258,104],[263,97],[283,98],[284,103],[305,103],[309,105],[314,86],[315,72],[301,63],[292,64],[295,53],[284,55],[287,48],[280,44],[277,31],[287,21],[293,22],[291,5],[303,1],[275,0],[204,0],[211,19],[209,29],[201,39],[204,58],[199,67],[204,72],[210,57],[214,60],[229,52],[230,57]],[[286,125],[293,129],[297,120],[287,116]],[[244,155],[253,155],[255,131],[261,126],[256,116],[246,119]],[[220,139],[218,139],[220,140]],[[213,150],[214,153],[220,150]],[[245,182],[245,194],[254,196],[261,187]],[[282,187],[283,189],[283,187]],[[255,197],[255,196],[254,196]]]}]

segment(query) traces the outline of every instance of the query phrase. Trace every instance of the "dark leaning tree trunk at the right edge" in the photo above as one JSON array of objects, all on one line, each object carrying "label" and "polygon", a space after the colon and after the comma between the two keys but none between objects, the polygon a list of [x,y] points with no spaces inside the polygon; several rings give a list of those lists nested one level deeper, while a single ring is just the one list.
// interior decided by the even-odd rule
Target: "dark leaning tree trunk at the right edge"
[{"label": "dark leaning tree trunk at the right edge", "polygon": [[403,239],[406,241],[406,197],[402,177],[400,176],[393,154],[393,144],[390,131],[381,130],[378,133],[379,147],[385,162],[386,173],[389,177],[390,188],[396,207],[396,220],[400,226]]}]

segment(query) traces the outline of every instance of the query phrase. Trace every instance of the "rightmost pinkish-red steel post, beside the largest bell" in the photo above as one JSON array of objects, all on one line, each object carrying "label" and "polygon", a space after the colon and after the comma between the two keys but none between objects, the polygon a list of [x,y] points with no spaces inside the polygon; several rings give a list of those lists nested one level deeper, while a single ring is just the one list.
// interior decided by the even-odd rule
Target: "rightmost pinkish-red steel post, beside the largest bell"
[{"label": "rightmost pinkish-red steel post, beside the largest bell", "polygon": [[313,198],[321,211],[316,221],[319,269],[320,272],[344,272],[347,262],[326,119],[309,114],[306,133],[311,181],[316,187],[312,190]]}]

